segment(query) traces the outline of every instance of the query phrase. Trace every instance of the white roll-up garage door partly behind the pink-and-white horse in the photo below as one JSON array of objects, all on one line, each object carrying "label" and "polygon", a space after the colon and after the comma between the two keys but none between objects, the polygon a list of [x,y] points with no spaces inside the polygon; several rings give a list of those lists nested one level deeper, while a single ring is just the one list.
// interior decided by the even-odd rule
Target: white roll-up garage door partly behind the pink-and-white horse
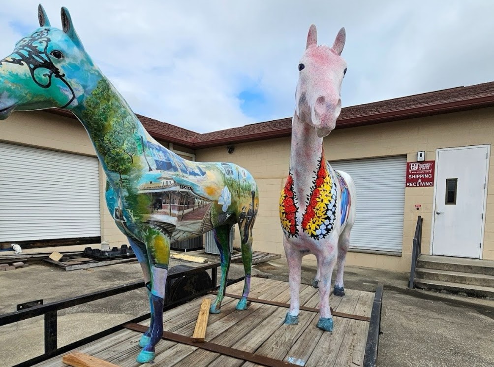
[{"label": "white roll-up garage door partly behind the pink-and-white horse", "polygon": [[357,219],[350,247],[401,252],[407,157],[329,163],[352,176],[357,187]]}]

